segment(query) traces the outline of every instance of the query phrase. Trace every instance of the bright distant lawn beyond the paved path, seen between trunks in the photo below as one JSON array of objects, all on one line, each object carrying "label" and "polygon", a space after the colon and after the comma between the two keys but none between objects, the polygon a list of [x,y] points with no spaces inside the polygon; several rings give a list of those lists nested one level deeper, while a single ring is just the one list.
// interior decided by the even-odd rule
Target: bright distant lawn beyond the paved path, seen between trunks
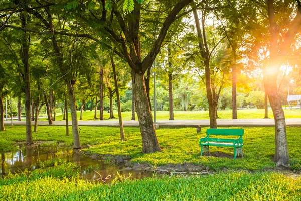
[{"label": "bright distant lawn beyond the paved path, seen between trunks", "polygon": [[[285,118],[301,118],[301,110],[284,110]],[[274,118],[272,110],[268,110],[268,117]],[[71,120],[71,113],[69,115],[69,120]],[[78,111],[77,116],[79,119],[80,111]],[[109,118],[109,113],[104,111],[104,119]],[[117,111],[114,111],[115,117],[118,117]],[[220,110],[218,111],[218,116],[221,119],[232,119],[232,110]],[[264,110],[237,110],[238,119],[263,119]],[[99,111],[97,111],[97,117],[99,118]],[[137,118],[137,115],[136,115]],[[168,120],[169,119],[169,111],[157,111],[156,112],[157,120]],[[202,120],[209,119],[208,111],[175,111],[174,112],[175,120]],[[57,121],[61,121],[63,119],[62,115],[56,116]],[[122,113],[123,120],[131,120],[131,112]],[[45,120],[45,119],[41,119]],[[83,120],[94,120],[94,111],[86,111],[83,112]]]}]

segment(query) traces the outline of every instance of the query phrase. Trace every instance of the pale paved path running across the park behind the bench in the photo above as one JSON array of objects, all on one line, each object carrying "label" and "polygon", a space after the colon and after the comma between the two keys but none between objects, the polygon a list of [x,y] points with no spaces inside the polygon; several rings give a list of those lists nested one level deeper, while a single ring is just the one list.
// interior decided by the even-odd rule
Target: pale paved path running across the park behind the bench
[{"label": "pale paved path running across the park behind the bench", "polygon": [[[25,125],[25,121],[13,121],[14,125]],[[10,125],[11,121],[5,121],[6,125]],[[34,124],[34,122],[32,122]],[[209,126],[209,120],[157,120],[159,127],[201,127]],[[38,125],[48,125],[48,121],[38,121]],[[53,125],[65,125],[65,121],[55,121]],[[71,125],[71,121],[69,121]],[[93,120],[78,121],[80,126],[119,126],[118,120]],[[139,126],[138,121],[123,121],[124,126]],[[274,126],[274,119],[218,119],[217,125],[222,127],[263,127]],[[287,126],[301,126],[301,119],[286,119]]]}]

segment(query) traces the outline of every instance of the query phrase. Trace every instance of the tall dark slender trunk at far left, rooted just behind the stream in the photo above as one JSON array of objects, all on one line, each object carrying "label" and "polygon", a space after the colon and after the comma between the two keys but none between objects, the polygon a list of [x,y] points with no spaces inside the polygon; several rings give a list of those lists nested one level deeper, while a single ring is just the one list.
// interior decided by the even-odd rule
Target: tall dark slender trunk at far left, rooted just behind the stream
[{"label": "tall dark slender trunk at far left, rooted just behind the stream", "polygon": [[[26,28],[25,14],[21,15],[21,24],[23,28]],[[31,110],[30,110],[30,74],[29,74],[29,37],[26,31],[23,31],[22,37],[22,63],[24,65],[24,93],[25,93],[25,116],[26,116],[26,144],[33,144],[32,127],[31,127]]]}]

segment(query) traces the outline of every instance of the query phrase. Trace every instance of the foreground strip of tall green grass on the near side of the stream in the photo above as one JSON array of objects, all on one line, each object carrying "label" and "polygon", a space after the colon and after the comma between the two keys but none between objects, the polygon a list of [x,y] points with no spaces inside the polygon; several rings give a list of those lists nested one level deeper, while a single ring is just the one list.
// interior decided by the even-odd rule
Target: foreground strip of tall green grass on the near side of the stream
[{"label": "foreground strip of tall green grass on the near side of the stream", "polygon": [[[72,167],[57,166],[58,171]],[[220,172],[209,176],[163,176],[107,185],[64,178],[53,168],[0,179],[0,200],[300,200],[301,179],[272,172]],[[36,173],[38,171],[38,173]]]}]

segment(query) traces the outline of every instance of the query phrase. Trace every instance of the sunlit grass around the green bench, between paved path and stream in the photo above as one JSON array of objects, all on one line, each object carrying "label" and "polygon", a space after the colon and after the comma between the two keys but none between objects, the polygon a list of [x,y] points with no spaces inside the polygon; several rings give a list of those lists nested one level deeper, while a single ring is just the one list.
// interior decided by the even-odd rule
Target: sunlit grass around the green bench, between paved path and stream
[{"label": "sunlit grass around the green bench, between paved path and stream", "polygon": [[[25,126],[6,127],[7,131],[0,132],[0,149],[5,151],[12,148],[11,142],[25,140]],[[71,146],[72,135],[65,136],[64,126],[40,126],[39,131],[33,133],[34,140],[64,141]],[[70,127],[71,130],[71,127]],[[101,155],[129,155],[132,162],[147,162],[153,165],[165,165],[168,163],[191,162],[208,166],[211,169],[248,169],[262,170],[274,168],[272,161],[275,149],[274,128],[245,128],[244,157],[233,159],[233,149],[226,147],[210,147],[214,153],[221,152],[226,157],[200,156],[199,139],[205,136],[206,129],[196,134],[195,128],[161,128],[157,129],[157,137],[162,152],[143,154],[142,141],[139,128],[125,127],[127,141],[119,140],[119,128],[115,127],[89,127],[80,126],[80,139],[82,145],[95,145],[86,150],[89,153]],[[301,170],[301,128],[287,127],[288,151],[291,168]]]}]

